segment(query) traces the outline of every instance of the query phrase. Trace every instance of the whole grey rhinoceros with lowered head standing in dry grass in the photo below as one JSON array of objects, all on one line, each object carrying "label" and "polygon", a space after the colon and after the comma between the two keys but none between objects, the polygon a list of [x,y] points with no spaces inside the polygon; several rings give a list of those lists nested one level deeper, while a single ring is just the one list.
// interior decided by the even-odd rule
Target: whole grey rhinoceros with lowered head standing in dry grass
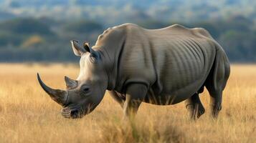
[{"label": "whole grey rhinoceros with lowered head standing in dry grass", "polygon": [[222,46],[202,28],[179,24],[163,29],[144,29],[136,24],[109,28],[98,36],[95,46],[80,46],[72,40],[72,50],[80,56],[76,80],[65,77],[67,89],[39,84],[62,105],[67,118],[83,117],[100,104],[108,90],[124,117],[136,114],[141,102],[169,105],[185,101],[191,119],[204,114],[199,94],[207,88],[212,116],[222,109],[222,92],[229,78],[229,60]]}]

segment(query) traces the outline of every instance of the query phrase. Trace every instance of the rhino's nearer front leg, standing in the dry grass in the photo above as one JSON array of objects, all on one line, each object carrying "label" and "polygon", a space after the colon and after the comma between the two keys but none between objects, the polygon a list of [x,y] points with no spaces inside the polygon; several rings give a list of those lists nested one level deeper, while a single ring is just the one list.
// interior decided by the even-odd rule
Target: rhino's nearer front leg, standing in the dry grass
[{"label": "rhino's nearer front leg, standing in the dry grass", "polygon": [[146,97],[147,90],[148,88],[144,84],[129,84],[123,105],[124,118],[133,119],[135,117],[138,107]]}]

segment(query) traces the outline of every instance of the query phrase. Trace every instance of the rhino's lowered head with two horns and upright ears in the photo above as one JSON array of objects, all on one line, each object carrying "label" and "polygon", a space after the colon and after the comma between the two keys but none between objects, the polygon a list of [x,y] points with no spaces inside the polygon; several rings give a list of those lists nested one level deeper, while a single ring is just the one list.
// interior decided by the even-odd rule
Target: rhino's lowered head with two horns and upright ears
[{"label": "rhino's lowered head with two horns and upright ears", "polygon": [[76,80],[65,77],[67,89],[52,89],[47,87],[37,74],[42,89],[60,104],[62,116],[80,118],[95,109],[100,103],[108,87],[108,75],[104,69],[100,51],[90,48],[88,43],[83,47],[75,40],[71,41],[72,49],[80,58],[80,74]]}]

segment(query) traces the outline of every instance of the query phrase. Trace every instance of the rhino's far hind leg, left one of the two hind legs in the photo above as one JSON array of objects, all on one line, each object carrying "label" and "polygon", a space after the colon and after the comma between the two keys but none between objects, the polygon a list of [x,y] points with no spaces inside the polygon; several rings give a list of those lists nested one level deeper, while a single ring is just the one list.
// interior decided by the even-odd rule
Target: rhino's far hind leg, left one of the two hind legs
[{"label": "rhino's far hind leg, left one of the two hind legs", "polygon": [[189,99],[186,99],[185,104],[191,119],[198,119],[205,112],[204,106],[199,99],[198,93],[194,94]]}]

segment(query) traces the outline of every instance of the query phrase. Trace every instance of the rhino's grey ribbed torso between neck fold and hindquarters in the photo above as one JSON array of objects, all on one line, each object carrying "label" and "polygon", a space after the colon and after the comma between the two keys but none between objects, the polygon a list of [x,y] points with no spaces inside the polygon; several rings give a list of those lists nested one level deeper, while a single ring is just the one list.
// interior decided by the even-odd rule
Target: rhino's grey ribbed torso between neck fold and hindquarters
[{"label": "rhino's grey ribbed torso between neck fold and hindquarters", "polygon": [[174,104],[197,92],[207,79],[216,49],[203,29],[174,25],[148,30],[132,25],[125,34],[118,91],[140,82],[148,86],[148,98],[171,99]]}]

